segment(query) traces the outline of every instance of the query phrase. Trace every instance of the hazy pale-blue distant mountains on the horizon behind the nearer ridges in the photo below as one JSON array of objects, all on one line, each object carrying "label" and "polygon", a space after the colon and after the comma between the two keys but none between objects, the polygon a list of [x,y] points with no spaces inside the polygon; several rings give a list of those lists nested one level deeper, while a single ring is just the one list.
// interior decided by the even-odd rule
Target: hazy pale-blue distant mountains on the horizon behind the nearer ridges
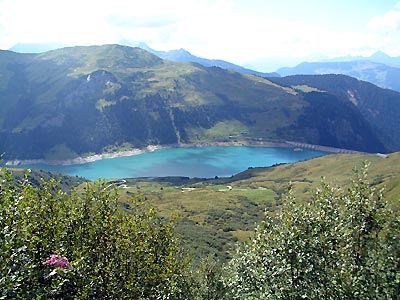
[{"label": "hazy pale-blue distant mountains on the horizon behind the nearer ridges", "polygon": [[[377,51],[370,56],[342,56],[330,59],[321,59],[317,62],[302,62],[294,67],[281,67],[276,72],[259,72],[253,69],[244,68],[236,64],[219,60],[198,57],[185,49],[170,51],[159,51],[149,47],[144,42],[134,42],[121,40],[121,45],[139,47],[160,58],[175,62],[194,62],[205,67],[220,67],[226,70],[233,70],[244,74],[253,74],[261,77],[281,77],[290,75],[318,75],[318,74],[343,74],[355,77],[360,80],[371,82],[383,88],[400,91],[398,80],[400,73],[400,57],[392,57],[382,51]],[[16,44],[9,50],[19,53],[41,53],[49,50],[61,48],[60,44]],[[253,63],[268,66],[276,65],[277,61],[281,64],[289,64],[293,59],[261,59],[262,63]],[[293,62],[292,62],[293,63]]]}]

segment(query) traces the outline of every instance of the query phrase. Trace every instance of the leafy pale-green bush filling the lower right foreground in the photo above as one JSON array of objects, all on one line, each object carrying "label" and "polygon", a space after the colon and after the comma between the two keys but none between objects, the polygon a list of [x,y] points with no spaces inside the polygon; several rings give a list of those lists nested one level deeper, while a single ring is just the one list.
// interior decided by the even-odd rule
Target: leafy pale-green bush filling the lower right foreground
[{"label": "leafy pale-green bush filling the lower right foreground", "polygon": [[230,262],[233,299],[399,299],[400,222],[366,179],[266,216]]}]

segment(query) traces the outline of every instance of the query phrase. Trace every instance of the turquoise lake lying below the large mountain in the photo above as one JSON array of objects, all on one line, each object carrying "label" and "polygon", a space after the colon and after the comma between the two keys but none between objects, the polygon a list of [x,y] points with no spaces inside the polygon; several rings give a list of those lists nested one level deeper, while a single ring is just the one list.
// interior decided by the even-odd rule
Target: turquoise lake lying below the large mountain
[{"label": "turquoise lake lying below the large mountain", "polygon": [[326,154],[328,153],[312,150],[293,151],[291,148],[245,146],[170,148],[86,164],[33,164],[21,167],[58,171],[90,180],[162,176],[213,178],[231,176],[249,167],[297,162]]}]

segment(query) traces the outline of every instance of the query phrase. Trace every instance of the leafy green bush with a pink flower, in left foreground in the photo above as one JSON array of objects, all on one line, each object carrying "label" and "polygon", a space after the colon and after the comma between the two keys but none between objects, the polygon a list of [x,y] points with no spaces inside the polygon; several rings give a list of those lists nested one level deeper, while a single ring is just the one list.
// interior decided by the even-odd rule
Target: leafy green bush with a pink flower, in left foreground
[{"label": "leafy green bush with a pink flower, in left foreground", "polygon": [[105,183],[67,195],[3,170],[0,299],[180,299],[187,264],[173,226]]}]

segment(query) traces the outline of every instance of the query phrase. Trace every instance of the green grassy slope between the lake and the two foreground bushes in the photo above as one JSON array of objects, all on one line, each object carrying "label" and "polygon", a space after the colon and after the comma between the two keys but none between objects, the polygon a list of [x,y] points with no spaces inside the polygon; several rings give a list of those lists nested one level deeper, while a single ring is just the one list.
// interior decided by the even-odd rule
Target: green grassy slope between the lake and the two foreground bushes
[{"label": "green grassy slope between the lake and the two foreground bushes", "polygon": [[287,184],[292,182],[299,201],[307,200],[321,177],[339,186],[349,184],[355,168],[371,163],[370,181],[385,187],[385,199],[400,209],[400,153],[329,155],[295,164],[254,168],[231,178],[189,180],[128,179],[120,187],[122,201],[144,195],[164,217],[176,216],[177,230],[194,255],[229,257],[233,242],[249,237],[263,213],[280,209]]}]

